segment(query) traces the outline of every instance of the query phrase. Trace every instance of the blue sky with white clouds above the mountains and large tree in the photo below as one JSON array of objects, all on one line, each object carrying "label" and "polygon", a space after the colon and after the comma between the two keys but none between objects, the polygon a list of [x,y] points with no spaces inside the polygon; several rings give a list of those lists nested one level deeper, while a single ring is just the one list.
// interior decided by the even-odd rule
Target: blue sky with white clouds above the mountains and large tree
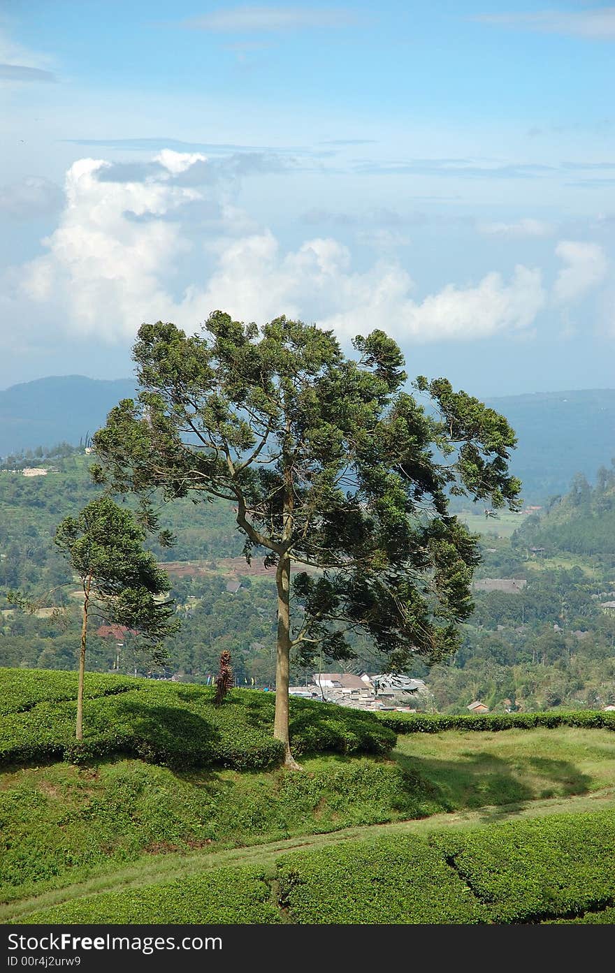
[{"label": "blue sky with white clouds above the mountains and large tree", "polygon": [[615,387],[614,54],[579,0],[0,0],[0,388],[215,309]]}]

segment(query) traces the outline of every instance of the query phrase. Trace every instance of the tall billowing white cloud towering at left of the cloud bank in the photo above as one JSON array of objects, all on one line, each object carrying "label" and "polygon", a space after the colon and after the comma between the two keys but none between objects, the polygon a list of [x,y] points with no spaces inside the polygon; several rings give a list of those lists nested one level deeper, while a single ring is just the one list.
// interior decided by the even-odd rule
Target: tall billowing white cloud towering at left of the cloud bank
[{"label": "tall billowing white cloud towering at left of the cloud bank", "polygon": [[135,221],[127,213],[162,217],[200,197],[163,181],[99,182],[96,174],[107,165],[82,159],[70,167],[60,225],[43,241],[48,253],[22,269],[19,291],[34,304],[55,307],[70,332],[114,341],[131,337],[141,320],[170,311],[161,276],[185,249],[177,224]]}]

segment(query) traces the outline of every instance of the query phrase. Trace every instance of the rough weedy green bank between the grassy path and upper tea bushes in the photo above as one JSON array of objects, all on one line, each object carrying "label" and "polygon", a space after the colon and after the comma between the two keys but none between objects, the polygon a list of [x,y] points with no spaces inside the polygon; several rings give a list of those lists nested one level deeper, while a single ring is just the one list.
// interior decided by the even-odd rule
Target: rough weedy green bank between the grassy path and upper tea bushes
[{"label": "rough weedy green bank between the grassy path and upper tea bushes", "polygon": [[318,763],[303,774],[177,775],[138,760],[20,771],[0,788],[0,901],[146,853],[243,847],[441,810],[392,762]]}]

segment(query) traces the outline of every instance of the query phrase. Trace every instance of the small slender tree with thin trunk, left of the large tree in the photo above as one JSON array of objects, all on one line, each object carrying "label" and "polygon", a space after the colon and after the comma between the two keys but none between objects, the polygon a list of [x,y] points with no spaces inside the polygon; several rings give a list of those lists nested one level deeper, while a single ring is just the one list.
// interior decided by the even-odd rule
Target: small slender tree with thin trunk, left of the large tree
[{"label": "small slender tree with thin trunk, left of the large tree", "polygon": [[83,739],[90,609],[102,612],[108,622],[138,632],[158,663],[164,658],[161,640],[177,631],[179,623],[173,618],[173,602],[156,600],[156,595],[169,591],[170,583],[154,555],[143,549],[144,528],[109,496],[92,500],[77,517],[66,517],[54,540],[79,576],[84,593],[76,726],[77,739]]}]

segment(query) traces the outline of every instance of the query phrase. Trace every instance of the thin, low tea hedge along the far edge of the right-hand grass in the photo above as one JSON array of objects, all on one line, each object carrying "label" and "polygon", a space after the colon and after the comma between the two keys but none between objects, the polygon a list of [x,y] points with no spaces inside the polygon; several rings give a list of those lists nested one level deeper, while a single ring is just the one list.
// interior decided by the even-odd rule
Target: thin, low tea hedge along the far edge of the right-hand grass
[{"label": "thin, low tea hedge along the far edge of the right-hand grass", "polygon": [[379,713],[384,726],[396,734],[442,733],[444,730],[477,730],[488,733],[497,730],[533,730],[535,727],[582,727],[586,730],[615,730],[615,712],[603,710],[574,710],[572,712],[542,713],[472,713],[444,716],[435,713]]}]

